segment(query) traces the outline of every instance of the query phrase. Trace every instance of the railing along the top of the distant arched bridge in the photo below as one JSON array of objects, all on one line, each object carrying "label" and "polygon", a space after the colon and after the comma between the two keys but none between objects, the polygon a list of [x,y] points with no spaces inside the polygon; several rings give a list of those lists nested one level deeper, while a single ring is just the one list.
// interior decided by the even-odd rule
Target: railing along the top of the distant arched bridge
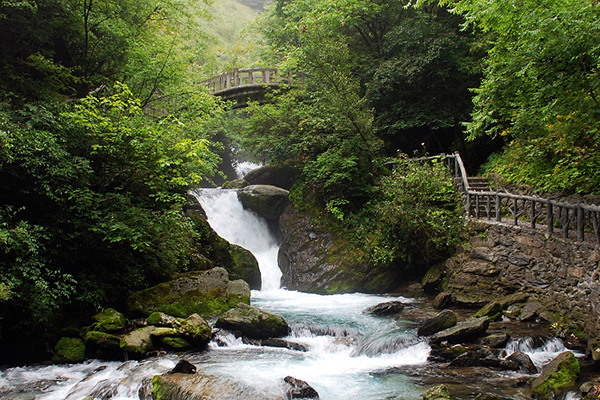
[{"label": "railing along the top of the distant arched bridge", "polygon": [[277,68],[235,68],[231,72],[226,72],[211,79],[201,82],[206,86],[210,93],[234,89],[243,86],[256,85],[303,85],[306,75],[288,71],[281,74]]}]

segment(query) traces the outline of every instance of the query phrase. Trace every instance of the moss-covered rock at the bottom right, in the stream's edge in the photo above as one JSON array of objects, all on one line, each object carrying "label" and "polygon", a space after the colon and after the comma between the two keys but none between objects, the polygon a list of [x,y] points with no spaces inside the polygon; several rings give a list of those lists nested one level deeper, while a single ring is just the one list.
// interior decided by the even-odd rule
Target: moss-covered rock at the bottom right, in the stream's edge
[{"label": "moss-covered rock at the bottom right, in the stream's edge", "polygon": [[579,361],[573,353],[565,351],[550,361],[541,374],[531,383],[531,395],[535,399],[546,400],[560,397],[575,388],[579,376]]}]

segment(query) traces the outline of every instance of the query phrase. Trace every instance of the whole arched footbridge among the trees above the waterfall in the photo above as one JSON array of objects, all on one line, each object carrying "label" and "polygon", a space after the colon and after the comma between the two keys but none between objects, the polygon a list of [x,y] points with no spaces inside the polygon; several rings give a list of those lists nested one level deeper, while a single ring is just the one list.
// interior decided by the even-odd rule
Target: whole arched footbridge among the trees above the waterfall
[{"label": "whole arched footbridge among the trees above the waterfall", "polygon": [[265,94],[282,85],[303,85],[306,75],[294,73],[280,74],[277,68],[235,68],[214,78],[207,79],[201,84],[208,88],[209,92],[223,100],[233,100],[233,108],[243,108],[248,101],[262,102]]}]

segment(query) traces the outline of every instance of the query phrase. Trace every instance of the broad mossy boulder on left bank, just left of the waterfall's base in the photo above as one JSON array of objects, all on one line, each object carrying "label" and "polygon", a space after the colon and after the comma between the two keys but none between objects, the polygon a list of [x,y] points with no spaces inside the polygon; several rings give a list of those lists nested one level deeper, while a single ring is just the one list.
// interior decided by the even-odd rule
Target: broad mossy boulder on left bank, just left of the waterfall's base
[{"label": "broad mossy boulder on left bank, just left of the waterfall's base", "polygon": [[179,278],[134,293],[127,301],[133,314],[148,316],[156,311],[179,318],[192,314],[220,314],[238,303],[250,304],[250,287],[230,281],[224,268],[190,272]]}]

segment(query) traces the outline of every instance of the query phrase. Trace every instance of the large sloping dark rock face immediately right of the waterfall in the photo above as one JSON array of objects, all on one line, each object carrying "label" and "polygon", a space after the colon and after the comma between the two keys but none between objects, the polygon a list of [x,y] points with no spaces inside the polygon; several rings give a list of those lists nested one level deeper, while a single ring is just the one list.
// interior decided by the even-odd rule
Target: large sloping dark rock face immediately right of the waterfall
[{"label": "large sloping dark rock face immediately right of the waterfall", "polygon": [[289,205],[279,226],[283,241],[277,258],[282,286],[322,294],[385,293],[398,287],[403,273],[398,265],[372,265],[359,246],[313,223],[308,213]]}]

